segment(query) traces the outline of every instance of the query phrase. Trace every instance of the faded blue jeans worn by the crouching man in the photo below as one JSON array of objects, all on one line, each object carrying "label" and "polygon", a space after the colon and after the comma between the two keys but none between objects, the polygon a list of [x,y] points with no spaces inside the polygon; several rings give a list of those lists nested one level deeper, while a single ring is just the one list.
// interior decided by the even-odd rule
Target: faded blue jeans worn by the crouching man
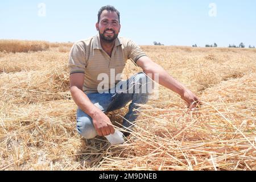
[{"label": "faded blue jeans worn by the crouching man", "polygon": [[[130,122],[135,121],[138,117],[138,111],[136,111],[136,109],[138,109],[139,106],[137,104],[146,104],[148,101],[149,84],[152,85],[151,79],[148,78],[145,73],[141,72],[130,77],[129,80],[118,82],[118,84],[115,85],[114,92],[89,93],[86,95],[90,101],[104,113],[121,109],[131,101],[129,111],[125,115],[125,119],[123,119],[122,124],[123,127],[130,127]],[[128,91],[123,93],[124,90]],[[77,109],[76,119],[77,131],[82,137],[92,139],[97,136],[92,118],[88,114],[84,113],[80,108]]]}]

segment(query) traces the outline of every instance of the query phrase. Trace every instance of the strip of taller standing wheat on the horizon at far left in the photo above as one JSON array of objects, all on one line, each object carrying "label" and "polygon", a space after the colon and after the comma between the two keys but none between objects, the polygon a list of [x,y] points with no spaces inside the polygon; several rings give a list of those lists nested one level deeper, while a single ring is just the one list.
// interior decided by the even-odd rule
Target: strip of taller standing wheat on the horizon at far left
[{"label": "strip of taller standing wheat on the horizon at far left", "polygon": [[49,43],[44,41],[28,40],[0,40],[0,52],[30,52],[46,51]]}]

